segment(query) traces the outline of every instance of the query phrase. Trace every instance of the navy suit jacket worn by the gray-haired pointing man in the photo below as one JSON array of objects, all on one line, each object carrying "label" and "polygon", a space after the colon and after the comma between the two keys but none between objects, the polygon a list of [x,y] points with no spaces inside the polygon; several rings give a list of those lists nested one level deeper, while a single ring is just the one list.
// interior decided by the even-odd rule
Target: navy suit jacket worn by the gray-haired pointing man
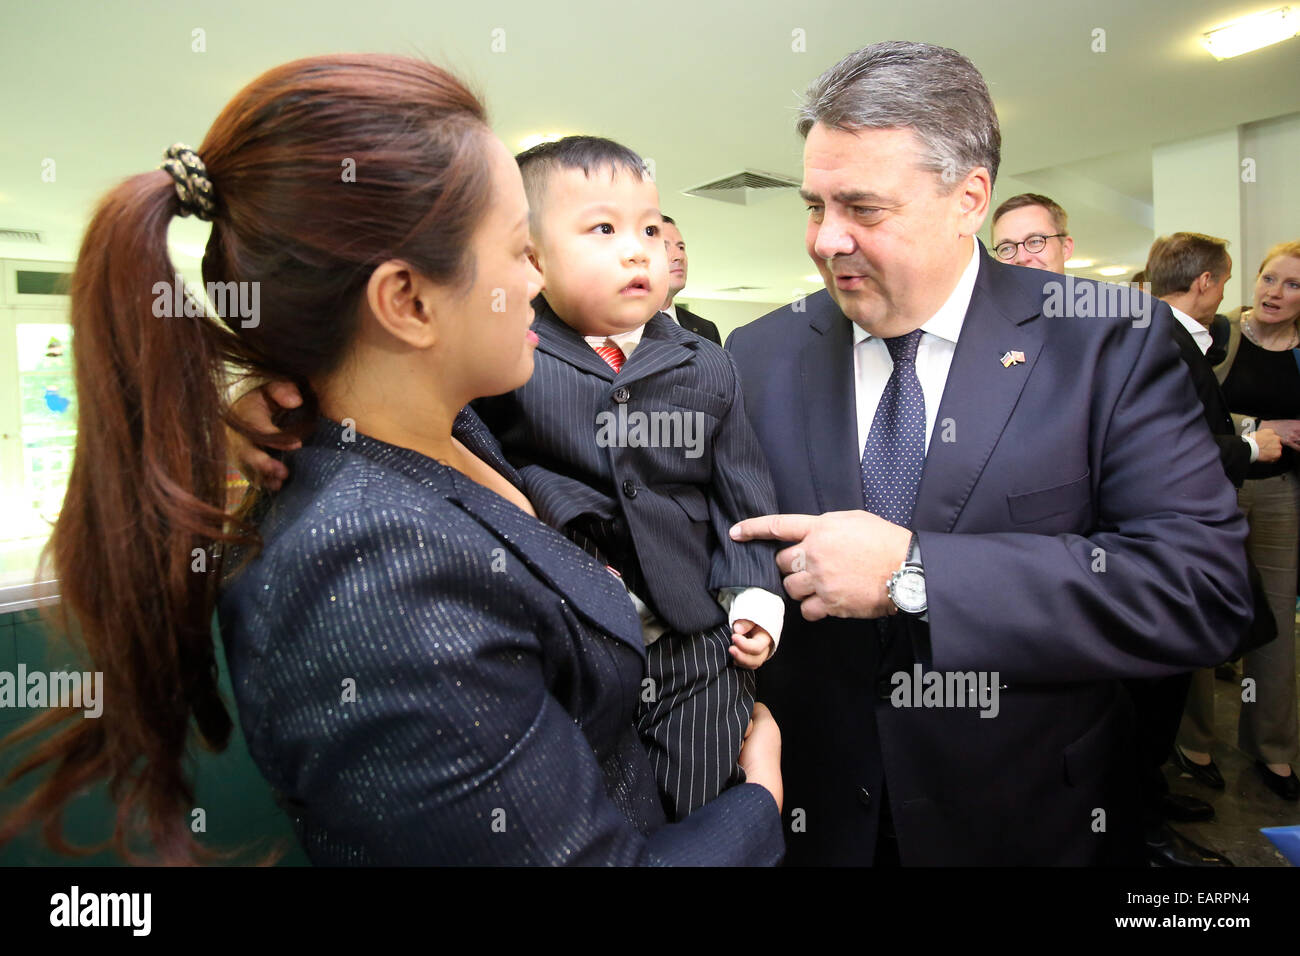
[{"label": "navy suit jacket worn by the gray-haired pointing man", "polygon": [[[870,864],[885,784],[904,864],[1135,861],[1117,679],[1217,663],[1249,619],[1245,522],[1169,307],[1149,328],[1044,317],[1052,280],[980,248],[913,518],[930,623],[888,624],[936,670],[997,671],[1000,711],[894,708],[872,623],[788,609],[758,682],[803,810],[790,862]],[[781,511],[862,509],[852,325],[829,295],[728,347]]]}]

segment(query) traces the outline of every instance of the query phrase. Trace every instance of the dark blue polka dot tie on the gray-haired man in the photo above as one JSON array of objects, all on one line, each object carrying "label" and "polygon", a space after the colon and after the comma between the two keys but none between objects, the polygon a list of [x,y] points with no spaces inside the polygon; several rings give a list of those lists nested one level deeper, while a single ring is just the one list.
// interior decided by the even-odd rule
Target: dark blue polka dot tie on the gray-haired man
[{"label": "dark blue polka dot tie on the gray-haired man", "polygon": [[885,339],[894,367],[862,450],[862,506],[905,528],[926,464],[926,395],[916,377],[920,334],[915,329]]}]

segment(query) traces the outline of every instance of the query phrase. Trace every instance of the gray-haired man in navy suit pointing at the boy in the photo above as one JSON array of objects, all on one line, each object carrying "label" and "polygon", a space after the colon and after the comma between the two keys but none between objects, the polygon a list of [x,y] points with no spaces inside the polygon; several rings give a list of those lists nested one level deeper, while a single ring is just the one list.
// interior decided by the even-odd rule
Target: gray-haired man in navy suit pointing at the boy
[{"label": "gray-haired man in navy suit pointing at the boy", "polygon": [[732,533],[788,542],[803,618],[759,676],[786,858],[1136,864],[1121,679],[1251,614],[1169,308],[984,252],[1000,133],[954,51],[850,53],[800,133],[827,290],[728,341],[786,512]]}]

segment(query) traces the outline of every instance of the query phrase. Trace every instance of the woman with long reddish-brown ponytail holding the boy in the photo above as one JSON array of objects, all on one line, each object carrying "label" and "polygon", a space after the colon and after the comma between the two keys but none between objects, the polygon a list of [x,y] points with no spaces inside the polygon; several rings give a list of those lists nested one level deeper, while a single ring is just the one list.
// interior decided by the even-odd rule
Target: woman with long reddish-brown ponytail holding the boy
[{"label": "woman with long reddish-brown ponytail holding the boy", "polygon": [[[176,215],[212,222],[217,315],[166,291]],[[39,825],[66,849],[62,809],[107,780],[122,856],[205,857],[186,753],[233,731],[216,610],[250,752],[313,861],[780,857],[763,711],[742,753],[755,783],[664,823],[632,726],[625,591],[532,516],[463,410],[532,371],[528,251],[519,172],[481,104],[403,57],[278,66],[196,150],[108,194],[73,278],[77,451],[48,550],[104,713],[10,737],[56,730],[9,777],[42,779],[0,844]],[[252,433],[231,372],[304,399],[277,421],[303,445],[292,481],[239,514],[225,428]]]}]

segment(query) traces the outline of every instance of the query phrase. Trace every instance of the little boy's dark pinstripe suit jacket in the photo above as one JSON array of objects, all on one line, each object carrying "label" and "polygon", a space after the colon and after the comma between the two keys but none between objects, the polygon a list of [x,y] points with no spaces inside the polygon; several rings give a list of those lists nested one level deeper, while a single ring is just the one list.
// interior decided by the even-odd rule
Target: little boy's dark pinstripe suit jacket
[{"label": "little boy's dark pinstripe suit jacket", "polygon": [[[731,356],[659,312],[615,375],[543,295],[533,308],[533,377],[474,407],[519,468],[538,516],[563,528],[582,515],[621,515],[630,542],[614,553],[636,554],[650,592],[640,597],[681,633],[725,622],[712,597],[720,588],[781,594],[775,546],[727,535],[740,519],[776,506]],[[653,423],[662,414],[689,423],[698,457],[680,446],[637,447],[630,424],[618,433],[620,421]],[[602,437],[607,425],[614,428]]]}]

